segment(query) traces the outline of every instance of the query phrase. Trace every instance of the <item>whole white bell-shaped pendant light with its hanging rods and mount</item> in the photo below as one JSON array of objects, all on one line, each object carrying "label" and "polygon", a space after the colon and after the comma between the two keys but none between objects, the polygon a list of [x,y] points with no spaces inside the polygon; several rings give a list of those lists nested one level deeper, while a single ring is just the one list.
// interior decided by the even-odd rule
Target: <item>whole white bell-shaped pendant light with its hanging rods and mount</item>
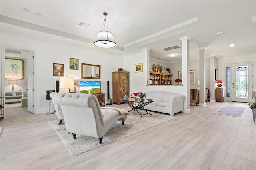
[{"label": "whole white bell-shaped pendant light with its hanging rods and mount", "polygon": [[108,15],[108,13],[104,12],[103,15],[105,16],[105,19],[100,28],[100,32],[98,33],[96,41],[94,42],[94,45],[102,48],[112,48],[116,46],[116,43],[114,42],[114,38],[109,30],[108,23],[106,20],[106,15]]}]

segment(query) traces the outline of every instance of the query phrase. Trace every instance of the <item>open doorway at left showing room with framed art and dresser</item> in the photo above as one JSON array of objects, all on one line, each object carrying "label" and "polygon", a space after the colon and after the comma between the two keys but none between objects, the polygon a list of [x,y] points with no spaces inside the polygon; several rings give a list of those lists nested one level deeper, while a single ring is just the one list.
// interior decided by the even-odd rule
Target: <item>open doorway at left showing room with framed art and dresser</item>
[{"label": "open doorway at left showing room with framed art and dresser", "polygon": [[4,61],[6,107],[27,107],[34,113],[34,51],[6,46]]}]

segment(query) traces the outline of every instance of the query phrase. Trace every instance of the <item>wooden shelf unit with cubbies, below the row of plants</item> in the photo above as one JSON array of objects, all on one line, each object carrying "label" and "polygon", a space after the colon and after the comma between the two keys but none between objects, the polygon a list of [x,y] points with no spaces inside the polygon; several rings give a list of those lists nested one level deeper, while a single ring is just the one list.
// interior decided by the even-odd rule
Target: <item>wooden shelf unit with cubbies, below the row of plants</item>
[{"label": "wooden shelf unit with cubbies, below the row of plants", "polygon": [[152,80],[152,85],[172,85],[172,75],[169,73],[149,72],[149,79]]}]

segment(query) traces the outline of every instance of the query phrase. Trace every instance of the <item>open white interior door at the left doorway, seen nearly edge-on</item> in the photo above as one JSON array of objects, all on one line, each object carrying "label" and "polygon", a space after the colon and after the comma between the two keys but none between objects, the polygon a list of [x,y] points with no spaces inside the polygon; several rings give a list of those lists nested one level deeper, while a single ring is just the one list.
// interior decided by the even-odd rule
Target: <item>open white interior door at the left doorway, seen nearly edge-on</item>
[{"label": "open white interior door at the left doorway, seen nearly edge-on", "polygon": [[28,111],[34,113],[34,51],[28,54]]}]

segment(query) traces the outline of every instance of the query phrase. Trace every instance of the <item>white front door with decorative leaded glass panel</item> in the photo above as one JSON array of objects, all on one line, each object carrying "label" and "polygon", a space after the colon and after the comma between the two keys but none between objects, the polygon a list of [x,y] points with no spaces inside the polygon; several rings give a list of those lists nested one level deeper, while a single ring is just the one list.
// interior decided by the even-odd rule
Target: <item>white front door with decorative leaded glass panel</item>
[{"label": "white front door with decorative leaded glass panel", "polygon": [[232,64],[232,101],[252,102],[252,62]]}]

